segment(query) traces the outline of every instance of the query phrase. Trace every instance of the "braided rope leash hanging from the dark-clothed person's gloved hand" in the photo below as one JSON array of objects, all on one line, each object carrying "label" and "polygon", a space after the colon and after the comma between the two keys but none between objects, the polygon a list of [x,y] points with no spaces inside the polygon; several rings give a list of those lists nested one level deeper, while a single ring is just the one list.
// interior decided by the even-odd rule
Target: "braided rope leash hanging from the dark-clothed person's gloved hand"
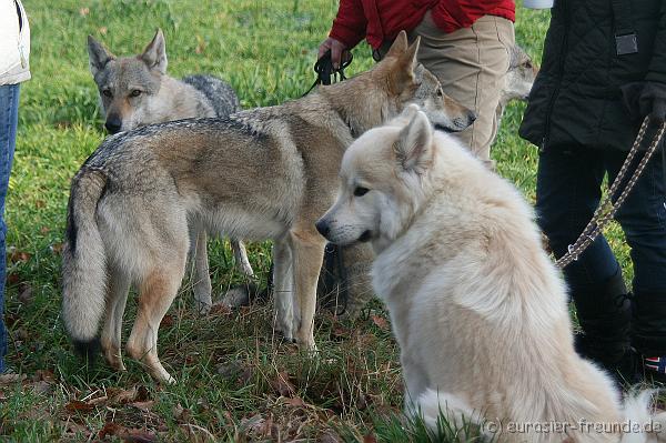
[{"label": "braided rope leash hanging from the dark-clothed person's gloved hand", "polygon": [[615,180],[613,181],[613,184],[610,185],[610,189],[608,190],[608,194],[602,201],[599,207],[596,209],[596,211],[594,212],[594,215],[592,217],[592,220],[589,221],[589,223],[587,223],[587,225],[585,226],[585,229],[583,230],[583,232],[581,233],[581,235],[578,236],[576,242],[574,244],[569,244],[567,253],[562,255],[559,258],[559,260],[557,260],[555,262],[555,266],[557,266],[559,269],[564,269],[569,263],[578,260],[578,256],[581,256],[583,251],[585,251],[587,249],[587,246],[589,246],[589,244],[593,241],[595,241],[595,239],[602,233],[602,231],[604,230],[606,224],[608,224],[608,222],[610,220],[613,220],[617,210],[622,207],[624,201],[627,199],[627,197],[634,189],[634,185],[638,181],[638,178],[640,177],[640,174],[643,174],[643,170],[647,165],[647,162],[653,157],[653,154],[657,150],[657,147],[659,145],[659,142],[662,141],[662,137],[664,135],[664,132],[666,131],[666,122],[662,123],[658,131],[655,133],[655,137],[654,137],[649,148],[647,149],[647,151],[645,151],[645,154],[643,155],[643,158],[640,159],[640,162],[636,167],[636,170],[634,171],[634,175],[632,175],[632,178],[627,181],[625,189],[622,190],[622,193],[619,194],[617,200],[614,200],[615,195],[617,194],[620,183],[625,179],[625,175],[629,169],[629,165],[634,161],[634,158],[636,157],[636,153],[638,152],[638,149],[640,148],[640,144],[643,143],[643,138],[645,137],[645,132],[647,131],[648,125],[649,125],[649,117],[646,117],[645,120],[643,120],[643,124],[640,125],[640,130],[638,131],[638,134],[636,135],[634,145],[629,150],[629,153],[627,154],[625,162],[622,164],[622,168],[619,169],[617,177],[615,178]]}]

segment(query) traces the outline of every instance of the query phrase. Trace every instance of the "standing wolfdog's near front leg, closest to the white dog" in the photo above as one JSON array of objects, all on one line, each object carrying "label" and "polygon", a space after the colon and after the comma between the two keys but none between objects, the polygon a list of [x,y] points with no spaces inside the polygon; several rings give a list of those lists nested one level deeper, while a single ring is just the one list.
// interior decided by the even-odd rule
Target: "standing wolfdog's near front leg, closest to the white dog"
[{"label": "standing wolfdog's near front leg, closest to the white dog", "polygon": [[316,283],[324,259],[326,241],[314,230],[314,223],[307,223],[307,226],[293,230],[290,243],[294,269],[294,301],[297,306],[296,343],[307,350],[315,351]]}]

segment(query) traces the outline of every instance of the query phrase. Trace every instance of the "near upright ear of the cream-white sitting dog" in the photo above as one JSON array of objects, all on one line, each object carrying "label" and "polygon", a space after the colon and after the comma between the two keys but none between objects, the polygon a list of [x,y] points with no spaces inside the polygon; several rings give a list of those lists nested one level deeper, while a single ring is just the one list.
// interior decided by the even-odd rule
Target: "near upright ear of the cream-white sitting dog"
[{"label": "near upright ear of the cream-white sitting dog", "polygon": [[[407,107],[407,110],[410,107]],[[406,111],[406,110],[405,110]],[[393,147],[397,161],[405,171],[423,174],[433,158],[433,130],[427,117],[418,111],[404,127]]]}]

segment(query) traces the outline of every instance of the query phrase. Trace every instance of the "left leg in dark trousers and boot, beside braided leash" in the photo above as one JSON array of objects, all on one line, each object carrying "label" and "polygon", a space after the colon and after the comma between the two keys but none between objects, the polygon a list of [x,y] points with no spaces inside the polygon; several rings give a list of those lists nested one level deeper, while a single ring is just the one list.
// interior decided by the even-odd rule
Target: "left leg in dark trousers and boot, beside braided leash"
[{"label": "left leg in dark trousers and boot, beside braided leash", "polygon": [[[536,212],[557,258],[576,241],[598,205],[605,174],[602,151],[574,147],[539,155]],[[619,264],[606,239],[597,238],[564,270],[585,335],[579,350],[616,370],[628,349],[630,304]]]}]

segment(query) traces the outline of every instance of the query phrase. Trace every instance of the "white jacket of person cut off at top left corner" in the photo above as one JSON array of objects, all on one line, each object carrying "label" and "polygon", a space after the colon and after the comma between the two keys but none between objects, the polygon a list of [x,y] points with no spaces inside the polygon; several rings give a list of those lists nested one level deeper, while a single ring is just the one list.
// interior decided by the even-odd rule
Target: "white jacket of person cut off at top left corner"
[{"label": "white jacket of person cut off at top left corner", "polygon": [[21,0],[0,0],[0,85],[30,79],[29,57],[30,27]]}]

